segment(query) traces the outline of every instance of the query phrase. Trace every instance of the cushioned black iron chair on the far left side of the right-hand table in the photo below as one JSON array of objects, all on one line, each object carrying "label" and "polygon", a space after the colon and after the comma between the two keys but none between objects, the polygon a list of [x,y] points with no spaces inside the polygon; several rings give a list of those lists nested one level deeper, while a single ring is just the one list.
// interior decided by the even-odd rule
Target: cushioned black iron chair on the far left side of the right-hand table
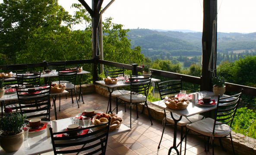
[{"label": "cushioned black iron chair on the far left side of the right-hand table", "polygon": [[[164,82],[157,82],[157,86],[158,86],[158,92],[160,95],[161,100],[164,99],[165,96],[174,96],[177,93],[180,93],[180,90],[183,90],[182,87],[182,81],[181,80],[171,80],[171,81],[164,81]],[[175,113],[172,114],[174,116],[174,118],[180,118],[180,115],[177,115]],[[164,135],[164,129],[165,126],[169,126],[169,125],[174,125],[174,120],[169,116],[166,115],[166,112],[164,110],[164,120],[163,120],[163,132],[162,132],[162,136],[158,145],[158,149],[160,148],[160,144]],[[181,148],[182,148],[182,141],[183,141],[183,128],[186,127],[186,124],[195,122],[195,121],[199,121],[203,118],[202,115],[193,115],[190,116],[188,118],[182,117],[180,121],[178,121],[177,125],[181,127],[181,132],[180,132],[180,143],[178,144],[178,146],[180,145],[180,152],[181,152]],[[171,124],[167,124],[167,122],[170,122]]]}]

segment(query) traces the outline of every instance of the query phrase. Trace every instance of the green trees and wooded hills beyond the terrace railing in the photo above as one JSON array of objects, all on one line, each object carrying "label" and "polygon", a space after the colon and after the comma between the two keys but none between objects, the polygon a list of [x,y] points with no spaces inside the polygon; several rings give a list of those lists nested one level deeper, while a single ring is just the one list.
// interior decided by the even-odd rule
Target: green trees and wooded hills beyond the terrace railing
[{"label": "green trees and wooded hills beyond the terrace railing", "polygon": [[[91,18],[81,4],[72,7],[77,10],[74,15],[58,5],[58,0],[3,0],[0,3],[0,65],[91,59]],[[85,29],[74,30],[77,24],[85,25]],[[200,32],[128,30],[109,17],[103,20],[103,33],[104,60],[149,64],[150,68],[162,71],[202,75]],[[218,33],[217,75],[234,84],[256,87],[256,72],[252,72],[256,70],[255,40],[256,33]],[[238,113],[247,115],[239,121],[245,124],[243,134],[256,138],[255,133],[247,133],[250,127],[256,126],[255,109],[243,108]]]}]

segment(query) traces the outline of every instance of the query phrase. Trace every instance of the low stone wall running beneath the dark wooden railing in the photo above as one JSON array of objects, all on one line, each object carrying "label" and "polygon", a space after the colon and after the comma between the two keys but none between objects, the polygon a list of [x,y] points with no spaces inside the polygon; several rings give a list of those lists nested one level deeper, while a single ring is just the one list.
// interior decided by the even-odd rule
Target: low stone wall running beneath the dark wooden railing
[{"label": "low stone wall running beneath the dark wooden railing", "polygon": [[[94,88],[93,88],[94,87]],[[89,89],[89,90],[84,90]],[[79,90],[79,89],[77,89]],[[108,96],[108,91],[106,87],[103,87],[101,85],[93,85],[93,84],[87,84],[82,85],[82,93],[94,93],[94,92],[101,94],[102,96]],[[164,118],[164,112],[162,109],[159,109],[148,102],[149,105],[149,111],[152,115],[152,118],[158,121],[162,121]],[[142,106],[138,106],[139,110],[142,110]],[[135,109],[134,109],[135,110]],[[144,111],[145,115],[148,115],[148,111]],[[167,112],[167,115],[170,114],[170,112]],[[201,137],[201,136],[200,136]],[[238,155],[256,155],[256,140],[247,136],[244,136],[240,133],[234,133],[232,132],[232,139],[234,143],[234,148],[236,150],[236,154]],[[232,152],[232,146],[230,138],[223,138],[222,139],[223,146],[225,146],[225,149],[228,150],[228,152]],[[218,139],[215,139],[215,144],[219,145]]]}]

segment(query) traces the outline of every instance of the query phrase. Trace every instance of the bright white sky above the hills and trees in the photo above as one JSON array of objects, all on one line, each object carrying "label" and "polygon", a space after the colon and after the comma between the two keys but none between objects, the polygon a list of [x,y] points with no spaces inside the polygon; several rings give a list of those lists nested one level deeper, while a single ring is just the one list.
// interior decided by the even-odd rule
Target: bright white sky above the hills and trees
[{"label": "bright white sky above the hills and trees", "polygon": [[[104,0],[103,7],[111,0]],[[92,0],[85,0],[91,6]],[[59,0],[70,14],[72,3]],[[104,12],[123,28],[202,31],[203,0],[115,0]],[[256,32],[256,0],[218,0],[218,32]],[[77,27],[83,29],[82,25]]]}]

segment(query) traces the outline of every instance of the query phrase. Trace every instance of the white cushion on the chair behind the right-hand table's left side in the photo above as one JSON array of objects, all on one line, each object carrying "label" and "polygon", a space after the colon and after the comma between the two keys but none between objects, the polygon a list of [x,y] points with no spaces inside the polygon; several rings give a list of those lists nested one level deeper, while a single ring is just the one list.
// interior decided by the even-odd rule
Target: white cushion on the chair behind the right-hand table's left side
[{"label": "white cushion on the chair behind the right-hand table's left side", "polygon": [[[175,113],[172,113],[172,115],[174,116],[175,119],[179,119],[180,115],[177,115]],[[185,127],[186,124],[190,124],[196,121],[200,121],[202,120],[203,116],[202,115],[193,115],[190,117],[182,117],[181,120],[177,123],[178,126],[180,127]],[[166,115],[166,120],[171,122],[172,124],[174,124],[174,120],[171,118],[171,115]]]}]

